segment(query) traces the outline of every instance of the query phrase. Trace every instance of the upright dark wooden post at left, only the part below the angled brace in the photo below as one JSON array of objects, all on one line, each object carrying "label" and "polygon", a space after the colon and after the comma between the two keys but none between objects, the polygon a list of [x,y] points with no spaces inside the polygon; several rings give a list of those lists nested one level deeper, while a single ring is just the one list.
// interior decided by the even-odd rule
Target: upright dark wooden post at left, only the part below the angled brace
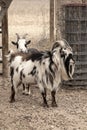
[{"label": "upright dark wooden post at left, only the part below the angled brace", "polygon": [[3,17],[2,20],[2,58],[3,58],[3,76],[8,76],[8,62],[5,55],[8,54],[8,12]]}]

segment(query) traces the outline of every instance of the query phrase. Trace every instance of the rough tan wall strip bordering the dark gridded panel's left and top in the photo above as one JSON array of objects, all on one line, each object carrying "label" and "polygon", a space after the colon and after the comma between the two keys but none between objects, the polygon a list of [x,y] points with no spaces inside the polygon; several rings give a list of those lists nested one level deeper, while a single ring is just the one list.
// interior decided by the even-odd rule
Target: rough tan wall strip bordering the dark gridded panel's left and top
[{"label": "rough tan wall strip bordering the dark gridded panel's left and top", "polygon": [[72,4],[72,3],[87,3],[87,0],[55,0],[55,39],[61,39],[64,37],[64,21],[63,19],[63,8],[64,4]]}]

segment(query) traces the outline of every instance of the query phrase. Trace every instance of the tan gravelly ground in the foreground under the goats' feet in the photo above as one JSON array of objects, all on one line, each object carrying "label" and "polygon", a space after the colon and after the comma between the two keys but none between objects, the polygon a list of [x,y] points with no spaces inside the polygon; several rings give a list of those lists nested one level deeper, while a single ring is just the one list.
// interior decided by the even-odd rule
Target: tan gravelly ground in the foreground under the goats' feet
[{"label": "tan gravelly ground in the foreground under the goats' feet", "polygon": [[0,78],[0,130],[87,130],[87,90],[60,88],[56,94],[58,107],[42,106],[42,97],[36,86],[31,96],[22,95],[20,87],[16,102],[9,103],[9,79]]}]

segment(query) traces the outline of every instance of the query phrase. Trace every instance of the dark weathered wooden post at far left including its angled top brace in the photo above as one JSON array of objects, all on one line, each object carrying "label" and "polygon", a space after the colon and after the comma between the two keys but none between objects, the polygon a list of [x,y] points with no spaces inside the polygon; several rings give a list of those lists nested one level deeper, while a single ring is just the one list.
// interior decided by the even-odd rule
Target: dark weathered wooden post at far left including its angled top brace
[{"label": "dark weathered wooden post at far left including its angled top brace", "polygon": [[12,0],[0,0],[0,25],[2,31],[2,73],[8,76],[8,63],[5,55],[8,54],[8,8]]}]

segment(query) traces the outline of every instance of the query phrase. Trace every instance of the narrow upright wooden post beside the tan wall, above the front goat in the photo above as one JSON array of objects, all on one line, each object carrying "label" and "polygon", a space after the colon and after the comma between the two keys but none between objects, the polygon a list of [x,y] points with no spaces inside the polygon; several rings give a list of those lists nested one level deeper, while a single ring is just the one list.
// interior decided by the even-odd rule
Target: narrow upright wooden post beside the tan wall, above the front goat
[{"label": "narrow upright wooden post beside the tan wall, above the front goat", "polygon": [[50,0],[50,42],[54,41],[54,0]]}]

